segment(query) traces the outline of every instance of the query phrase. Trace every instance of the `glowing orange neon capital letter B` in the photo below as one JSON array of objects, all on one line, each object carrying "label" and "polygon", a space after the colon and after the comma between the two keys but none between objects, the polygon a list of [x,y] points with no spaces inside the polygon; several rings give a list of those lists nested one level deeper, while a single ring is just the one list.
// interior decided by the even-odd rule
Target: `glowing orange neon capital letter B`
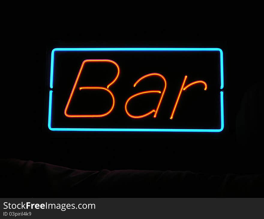
[{"label": "glowing orange neon capital letter B", "polygon": [[[79,77],[80,77],[80,75],[82,73],[83,66],[84,66],[84,64],[86,62],[110,62],[110,63],[113,63],[114,65],[116,65],[116,67],[117,67],[116,77],[110,84],[107,85],[107,88],[105,88],[105,87],[80,87],[79,88],[80,90],[82,90],[82,89],[102,89],[102,90],[105,90],[105,91],[109,92],[110,95],[112,96],[112,99],[113,99],[112,107],[111,107],[111,109],[109,111],[107,111],[107,113],[99,114],[99,115],[69,115],[67,113],[67,110],[68,110],[68,107],[70,105],[70,101],[72,99],[73,93],[74,93],[74,91],[76,89],[76,85],[77,85],[77,83],[79,81]],[[109,59],[87,59],[87,60],[84,60],[82,62],[82,65],[80,67],[79,73],[78,73],[78,75],[76,77],[76,80],[74,82],[72,91],[70,93],[70,97],[68,99],[68,102],[67,102],[65,110],[64,110],[64,115],[67,116],[67,117],[75,117],[75,118],[76,117],[103,117],[103,116],[107,116],[109,113],[111,113],[113,111],[113,109],[114,109],[114,106],[115,106],[115,97],[114,97],[113,93],[108,88],[116,82],[116,80],[119,77],[119,73],[120,73],[120,68],[119,68],[118,64],[116,62],[112,61],[112,60],[109,60]]]}]

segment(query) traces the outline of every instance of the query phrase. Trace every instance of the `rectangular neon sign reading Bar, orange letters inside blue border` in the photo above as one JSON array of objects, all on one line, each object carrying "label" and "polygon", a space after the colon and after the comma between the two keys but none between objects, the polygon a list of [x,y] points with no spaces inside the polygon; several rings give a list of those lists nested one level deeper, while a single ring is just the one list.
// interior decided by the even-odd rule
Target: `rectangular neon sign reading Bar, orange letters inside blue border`
[{"label": "rectangular neon sign reading Bar, orange letters inside blue border", "polygon": [[[161,52],[162,54],[166,53],[169,58],[164,59],[163,62],[159,59],[160,63],[155,62],[157,56],[159,56]],[[122,54],[119,55],[119,53]],[[143,53],[144,59],[140,58],[140,55]],[[175,67],[173,62],[168,63],[167,61],[170,59],[175,60],[175,56],[181,61],[179,65],[182,64],[182,66],[184,66],[184,61],[187,63],[186,60],[196,60],[194,57],[191,57],[192,53],[195,53],[195,57],[199,58],[203,57],[205,53],[207,55],[205,56],[206,58],[209,57],[208,53],[211,54],[213,57],[211,62],[215,63],[214,65],[211,64],[211,66],[207,67],[206,62],[204,62],[204,65],[200,64],[202,67],[205,66],[208,68],[205,72],[207,71],[210,74],[207,72],[201,73],[204,69],[196,70],[196,68],[192,68],[191,65],[188,66],[188,68],[189,70],[191,69],[192,72],[176,73],[177,68],[173,69],[173,67]],[[75,58],[74,54],[77,54],[76,56],[79,57],[79,60]],[[138,64],[138,66],[146,69],[149,68],[149,72],[136,68],[136,64],[132,63],[133,65],[131,65],[129,61],[131,60],[130,57],[133,55],[134,58],[135,54],[139,54],[139,61],[137,61],[137,63],[140,64]],[[186,54],[190,57],[187,57]],[[149,58],[146,58],[148,55]],[[102,58],[100,58],[100,56]],[[124,58],[125,56],[128,56],[128,58]],[[70,71],[66,67],[60,67],[69,64],[68,61],[65,61],[69,60],[69,57],[73,60],[72,69],[74,69],[74,71],[76,71],[78,67],[75,62],[81,62],[78,72]],[[145,64],[147,67],[145,67]],[[151,64],[153,64],[154,67],[152,67]],[[86,67],[91,66],[96,66],[97,70],[84,70]],[[100,66],[107,66],[107,70],[98,70]],[[113,70],[113,67],[115,70]],[[109,70],[110,68],[112,68],[112,70]],[[157,71],[153,72],[155,70],[154,68],[157,68]],[[179,68],[183,69],[181,66]],[[65,74],[65,70],[69,71],[67,74],[71,75],[71,77],[65,77],[62,74]],[[132,70],[134,72],[137,70],[137,72],[134,73],[134,79],[133,73],[131,73]],[[167,72],[171,73],[169,74]],[[90,79],[84,79],[85,75],[96,76],[98,74],[104,75],[102,76],[102,82],[99,82],[100,85],[93,84],[93,86],[91,86],[90,84],[92,82]],[[201,76],[199,74],[201,74]],[[73,83],[72,80],[74,75],[75,82]],[[129,75],[130,80],[124,80],[127,75]],[[212,75],[214,78],[212,78]],[[182,76],[184,76],[184,78],[183,80],[181,79],[182,83],[179,84],[179,79]],[[208,79],[206,79],[206,77],[208,77]],[[177,81],[173,81],[175,78],[177,78]],[[127,85],[123,85],[122,88],[125,87],[128,91],[126,91],[126,89],[117,90],[122,80],[127,83]],[[136,80],[136,82],[133,84],[131,80]],[[189,80],[192,82],[187,84]],[[73,83],[71,88],[66,86],[66,84],[70,85],[70,83]],[[180,86],[176,86],[175,84]],[[150,89],[144,89],[144,85],[147,85]],[[152,86],[159,87],[158,89],[152,89]],[[51,52],[49,88],[48,128],[51,131],[220,132],[224,128],[222,90],[223,51],[219,48],[55,48]],[[140,92],[135,94],[131,88],[140,89]],[[196,92],[193,93],[193,90]],[[199,93],[201,90],[204,91],[204,93]],[[178,92],[178,94],[175,97],[176,92]],[[190,99],[192,98],[190,95],[189,99],[187,100],[186,98],[185,100],[185,93],[191,93],[192,96],[194,96],[194,100]],[[105,98],[104,101],[97,98],[96,103],[102,105],[101,111],[99,110],[100,112],[98,113],[90,113],[89,108],[97,105],[95,102],[91,101],[91,99],[95,98],[97,94],[103,95],[103,98]],[[206,114],[206,110],[215,109],[214,105],[210,105],[212,97],[217,99],[213,104],[218,106],[218,112],[211,113],[212,115],[210,114],[210,118],[210,116],[207,116],[209,114]],[[203,103],[195,105],[197,110],[193,110],[192,107],[187,107],[184,110],[179,109],[179,115],[176,113],[176,109],[178,109],[179,106],[182,107],[182,105],[186,105],[186,103],[192,104],[197,98],[201,99]],[[111,102],[109,102],[110,100]],[[142,100],[144,101],[140,102]],[[157,101],[156,104],[154,101]],[[144,102],[148,104],[144,105]],[[180,104],[181,102],[183,102],[182,105]],[[80,106],[84,104],[88,106],[88,109],[81,110],[82,113],[78,113],[77,111],[80,111],[79,108],[85,107],[75,107],[76,104],[74,103],[78,103]],[[153,107],[153,105],[156,106]],[[151,106],[152,108],[149,108]],[[195,114],[196,111],[199,112],[197,114],[198,116],[194,117],[195,119],[189,119],[189,121],[187,121],[188,117]],[[183,113],[186,113],[186,115],[182,116]],[[217,114],[218,116],[215,116]],[[118,119],[119,117],[120,119]],[[202,117],[208,117],[207,123],[210,127],[205,128],[204,126],[207,124],[199,122],[201,119],[206,120],[206,118]],[[211,122],[211,120],[213,121]],[[194,121],[193,127],[190,127],[192,126],[192,121]],[[184,127],[185,122],[188,124],[188,127]],[[61,126],[58,126],[58,124],[61,124]],[[199,128],[199,126],[201,126],[201,128]]]}]

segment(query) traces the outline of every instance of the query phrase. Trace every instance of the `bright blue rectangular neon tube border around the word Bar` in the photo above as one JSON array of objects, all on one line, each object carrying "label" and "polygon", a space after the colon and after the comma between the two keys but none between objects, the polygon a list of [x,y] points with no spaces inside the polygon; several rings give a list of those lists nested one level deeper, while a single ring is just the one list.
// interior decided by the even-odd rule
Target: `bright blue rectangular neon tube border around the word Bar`
[{"label": "bright blue rectangular neon tube border around the word Bar", "polygon": [[[55,48],[51,52],[50,89],[53,88],[54,54],[56,51],[219,51],[220,52],[220,89],[224,87],[223,51],[219,48]],[[220,129],[166,129],[166,128],[52,128],[52,90],[49,91],[48,128],[51,131],[134,131],[134,132],[221,132],[224,129],[223,91],[220,91]]]}]

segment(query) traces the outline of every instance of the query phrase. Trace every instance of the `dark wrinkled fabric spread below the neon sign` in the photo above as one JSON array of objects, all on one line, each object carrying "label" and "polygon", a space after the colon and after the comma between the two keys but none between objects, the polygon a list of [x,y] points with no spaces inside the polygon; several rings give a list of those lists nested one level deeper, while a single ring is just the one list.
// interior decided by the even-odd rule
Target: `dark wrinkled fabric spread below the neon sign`
[{"label": "dark wrinkled fabric spread below the neon sign", "polygon": [[1,159],[2,197],[263,197],[264,175],[83,171]]}]

